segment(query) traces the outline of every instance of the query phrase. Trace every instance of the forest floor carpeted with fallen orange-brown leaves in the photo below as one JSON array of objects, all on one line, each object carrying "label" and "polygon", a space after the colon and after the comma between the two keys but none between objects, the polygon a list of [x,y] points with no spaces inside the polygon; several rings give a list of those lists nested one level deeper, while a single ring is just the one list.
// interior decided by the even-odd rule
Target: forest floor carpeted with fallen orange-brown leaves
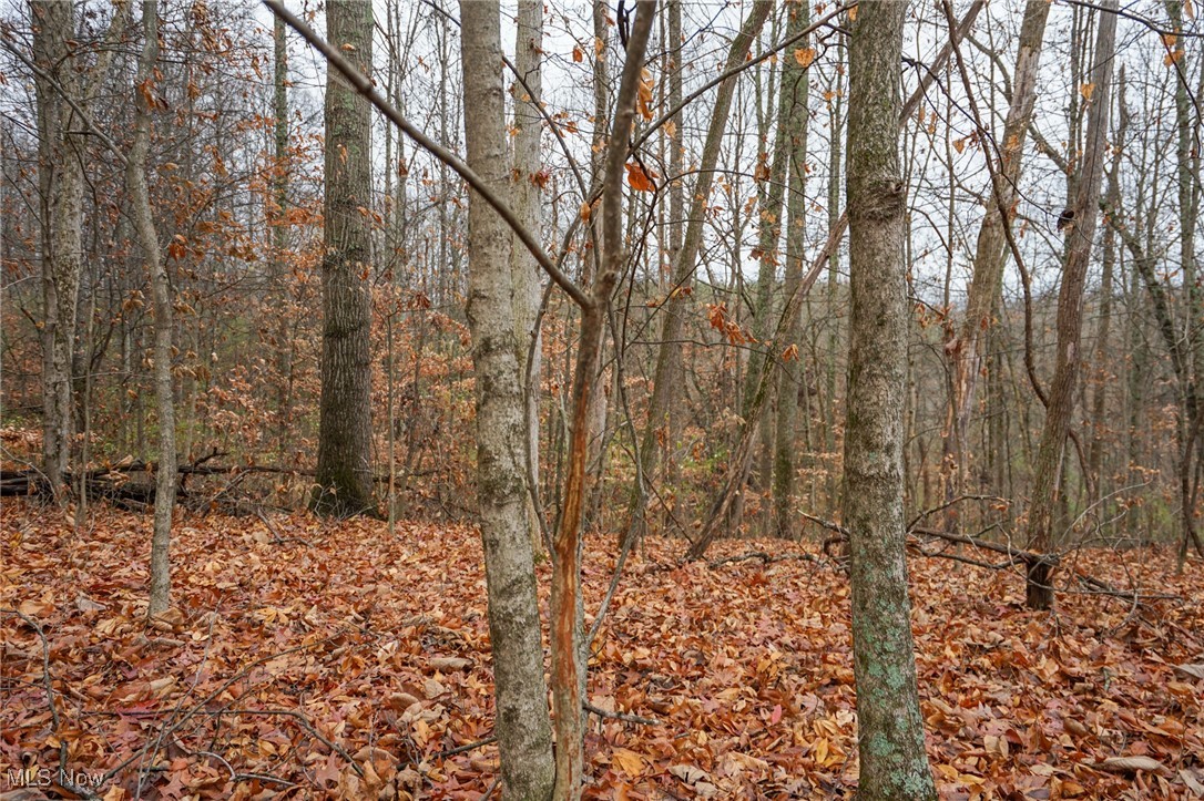
[{"label": "forest floor carpeted with fallen orange-brown leaves", "polygon": [[[111,801],[479,799],[494,787],[496,746],[465,748],[492,728],[473,529],[406,523],[390,539],[374,521],[279,516],[272,532],[181,515],[175,615],[147,629],[149,516],[98,506],[77,533],[5,500],[0,795],[23,760],[58,781],[60,749],[73,783],[100,782]],[[681,565],[683,546],[653,539],[633,557],[595,643],[590,701],[656,723],[590,717],[586,796],[851,796],[846,576],[807,558],[814,546],[724,541],[713,559],[793,558]],[[588,611],[610,548],[588,544]],[[1204,795],[1204,570],[1175,577],[1173,554],[1140,550],[1082,552],[1063,581],[1072,571],[1182,600],[1084,589],[1033,613],[1015,570],[911,559],[943,797]]]}]

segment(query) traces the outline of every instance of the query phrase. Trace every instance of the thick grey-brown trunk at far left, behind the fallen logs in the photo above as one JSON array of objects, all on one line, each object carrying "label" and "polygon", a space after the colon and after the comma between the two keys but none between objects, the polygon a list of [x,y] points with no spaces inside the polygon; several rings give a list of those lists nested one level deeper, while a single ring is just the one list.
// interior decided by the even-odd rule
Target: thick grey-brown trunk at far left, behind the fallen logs
[{"label": "thick grey-brown trunk at far left, behind the fallen logs", "polygon": [[[42,469],[59,503],[73,435],[71,364],[83,253],[84,123],[63,94],[79,96],[75,6],[31,0],[34,63],[49,77],[37,88],[39,185],[42,212]],[[58,87],[54,87],[54,83]]]}]

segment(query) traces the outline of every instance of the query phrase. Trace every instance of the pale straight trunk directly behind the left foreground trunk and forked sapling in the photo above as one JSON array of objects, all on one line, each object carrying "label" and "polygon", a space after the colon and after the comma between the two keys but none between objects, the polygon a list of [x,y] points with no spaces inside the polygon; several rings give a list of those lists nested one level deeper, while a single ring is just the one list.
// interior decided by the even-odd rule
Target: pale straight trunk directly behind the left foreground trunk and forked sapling
[{"label": "pale straight trunk directly behind the left foreground trunk and forked sapling", "polygon": [[[514,66],[523,82],[514,83],[514,170],[510,173],[510,203],[524,227],[535,235],[543,229],[544,178],[539,171],[539,134],[543,119],[537,103],[543,94],[541,65],[543,63],[543,0],[520,0],[515,24]],[[525,84],[525,85],[524,85]],[[539,481],[539,372],[543,358],[543,337],[536,327],[542,287],[539,265],[523,242],[514,237],[510,244],[514,285],[514,326],[519,342],[519,370],[524,376],[526,399],[526,459],[530,477]],[[527,358],[530,357],[530,364]],[[542,548],[539,510],[531,506],[531,545]]]}]

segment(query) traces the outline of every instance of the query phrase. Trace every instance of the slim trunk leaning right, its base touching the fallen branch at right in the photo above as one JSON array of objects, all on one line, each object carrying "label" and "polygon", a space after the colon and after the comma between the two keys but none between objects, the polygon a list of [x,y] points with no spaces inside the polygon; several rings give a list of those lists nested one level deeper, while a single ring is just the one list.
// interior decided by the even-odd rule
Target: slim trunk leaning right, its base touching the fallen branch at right
[{"label": "slim trunk leaning right, its base touching the fallen branch at right", "polygon": [[[1091,90],[1087,112],[1087,136],[1082,153],[1082,170],[1076,182],[1068,239],[1066,268],[1057,304],[1057,362],[1049,388],[1045,427],[1037,451],[1033,476],[1033,497],[1028,509],[1028,547],[1046,553],[1057,545],[1054,517],[1066,453],[1066,438],[1074,413],[1075,387],[1082,361],[1082,292],[1087,278],[1096,220],[1099,216],[1099,190],[1108,156],[1108,113],[1111,103],[1112,55],[1116,49],[1116,0],[1106,0],[1099,14],[1099,30],[1091,70]],[[1029,565],[1027,605],[1029,609],[1050,609],[1054,588],[1050,583],[1054,564],[1041,559]]]}]

